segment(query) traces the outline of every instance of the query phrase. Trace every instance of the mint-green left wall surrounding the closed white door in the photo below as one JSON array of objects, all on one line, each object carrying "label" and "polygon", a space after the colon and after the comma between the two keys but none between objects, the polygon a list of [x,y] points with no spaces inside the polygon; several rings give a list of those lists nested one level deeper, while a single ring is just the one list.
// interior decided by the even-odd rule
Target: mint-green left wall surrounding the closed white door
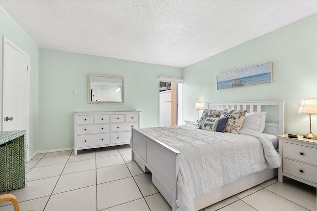
[{"label": "mint-green left wall surrounding the closed white door", "polygon": [[[0,83],[2,83],[3,35],[19,46],[30,56],[30,155],[37,152],[38,125],[38,74],[39,48],[32,40],[0,9]],[[0,85],[2,89],[2,84]],[[2,91],[0,91],[0,94]],[[1,96],[0,96],[1,99]],[[1,105],[0,105],[1,106]],[[0,113],[1,115],[1,113]],[[2,117],[0,117],[2,118]],[[1,121],[0,121],[1,124]]]}]

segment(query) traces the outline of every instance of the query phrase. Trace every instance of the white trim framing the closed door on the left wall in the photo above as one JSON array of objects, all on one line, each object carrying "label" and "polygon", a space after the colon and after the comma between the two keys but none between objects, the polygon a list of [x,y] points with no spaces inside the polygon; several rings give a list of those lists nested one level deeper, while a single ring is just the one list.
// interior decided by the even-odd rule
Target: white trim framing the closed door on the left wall
[{"label": "white trim framing the closed door on the left wall", "polygon": [[[3,118],[3,68],[4,68],[4,51],[5,51],[5,43],[19,51],[21,54],[23,54],[27,58],[27,74],[26,74],[26,80],[27,80],[27,123],[26,123],[26,144],[27,144],[27,154],[26,159],[27,161],[30,160],[30,56],[25,53],[19,46],[17,46],[14,42],[10,41],[7,37],[3,35],[2,38],[2,81],[1,81],[1,118]],[[3,125],[1,123],[1,131],[3,131]]]}]

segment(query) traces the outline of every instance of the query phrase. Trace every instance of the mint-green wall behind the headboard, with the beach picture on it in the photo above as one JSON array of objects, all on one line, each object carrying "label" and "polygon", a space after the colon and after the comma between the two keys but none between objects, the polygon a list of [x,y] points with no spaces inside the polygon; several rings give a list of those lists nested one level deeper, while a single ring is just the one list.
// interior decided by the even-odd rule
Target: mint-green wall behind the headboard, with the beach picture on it
[{"label": "mint-green wall behind the headboard, with the beach picture on it", "polygon": [[[234,32],[232,32],[234,33]],[[217,90],[216,75],[272,62],[273,83]],[[317,98],[317,13],[183,69],[184,120],[196,120],[195,103],[287,100],[285,132],[309,132],[298,114],[303,98]],[[312,115],[317,133],[317,115]]]}]

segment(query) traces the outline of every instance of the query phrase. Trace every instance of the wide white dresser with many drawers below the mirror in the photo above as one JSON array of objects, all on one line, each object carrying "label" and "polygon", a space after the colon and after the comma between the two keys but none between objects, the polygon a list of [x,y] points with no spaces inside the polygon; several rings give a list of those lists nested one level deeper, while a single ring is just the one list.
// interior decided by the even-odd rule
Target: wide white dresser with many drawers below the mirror
[{"label": "wide white dresser with many drawers below the mirror", "polygon": [[77,150],[130,143],[131,127],[140,127],[140,111],[73,112]]}]

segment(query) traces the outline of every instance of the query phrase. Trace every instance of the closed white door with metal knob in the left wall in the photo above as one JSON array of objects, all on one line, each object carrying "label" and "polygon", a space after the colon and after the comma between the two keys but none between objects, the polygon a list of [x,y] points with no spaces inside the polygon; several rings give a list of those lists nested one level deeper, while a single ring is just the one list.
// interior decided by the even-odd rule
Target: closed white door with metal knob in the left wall
[{"label": "closed white door with metal knob in the left wall", "polygon": [[3,41],[2,131],[27,130],[28,144],[29,56],[7,38]]}]

